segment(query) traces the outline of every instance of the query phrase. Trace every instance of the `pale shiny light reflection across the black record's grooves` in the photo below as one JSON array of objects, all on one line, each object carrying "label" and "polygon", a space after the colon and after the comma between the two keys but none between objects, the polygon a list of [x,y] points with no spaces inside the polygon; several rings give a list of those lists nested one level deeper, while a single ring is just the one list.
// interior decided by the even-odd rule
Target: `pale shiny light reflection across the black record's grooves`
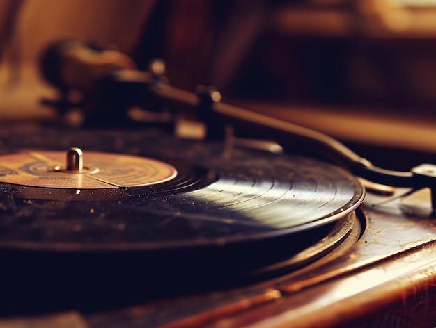
[{"label": "pale shiny light reflection across the black record's grooves", "polygon": [[345,179],[308,183],[222,177],[189,195],[196,198],[199,213],[216,213],[226,219],[234,216],[239,224],[286,229],[349,213],[360,204],[363,191]]}]

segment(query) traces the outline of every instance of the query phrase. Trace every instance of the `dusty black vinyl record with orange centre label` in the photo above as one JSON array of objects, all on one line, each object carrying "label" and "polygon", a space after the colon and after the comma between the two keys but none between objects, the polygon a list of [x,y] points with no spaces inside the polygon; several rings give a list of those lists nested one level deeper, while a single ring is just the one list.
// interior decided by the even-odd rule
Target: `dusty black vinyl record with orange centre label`
[{"label": "dusty black vinyl record with orange centre label", "polygon": [[153,251],[243,243],[334,222],[364,195],[347,172],[298,156],[286,159],[286,172],[275,166],[270,175],[261,156],[220,170],[95,152],[84,173],[56,172],[63,155],[0,156],[3,209],[13,218],[2,220],[1,247]]}]

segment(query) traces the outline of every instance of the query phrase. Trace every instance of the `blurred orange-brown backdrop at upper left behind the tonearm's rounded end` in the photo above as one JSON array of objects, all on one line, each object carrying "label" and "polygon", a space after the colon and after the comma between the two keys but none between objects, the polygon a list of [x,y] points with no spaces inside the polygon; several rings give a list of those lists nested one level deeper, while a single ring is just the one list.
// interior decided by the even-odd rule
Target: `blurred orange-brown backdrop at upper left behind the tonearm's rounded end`
[{"label": "blurred orange-brown backdrop at upper left behind the tonearm's rounded end", "polygon": [[0,66],[2,120],[40,120],[52,110],[37,106],[42,96],[53,97],[38,70],[41,52],[56,40],[73,38],[116,44],[123,51],[136,46],[143,24],[155,1],[141,0],[3,0],[0,1],[0,35],[5,35],[12,6],[19,14],[12,40],[3,48]]}]

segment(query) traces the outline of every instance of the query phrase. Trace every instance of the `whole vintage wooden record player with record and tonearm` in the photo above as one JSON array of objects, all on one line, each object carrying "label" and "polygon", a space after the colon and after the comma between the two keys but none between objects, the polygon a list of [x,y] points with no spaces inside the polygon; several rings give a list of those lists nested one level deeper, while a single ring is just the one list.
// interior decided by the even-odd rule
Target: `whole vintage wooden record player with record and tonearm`
[{"label": "whole vintage wooden record player with record and tonearm", "polygon": [[[434,165],[383,170],[102,53],[42,60],[45,104],[84,126],[0,131],[0,327],[435,325]],[[180,108],[205,140],[174,136]]]}]

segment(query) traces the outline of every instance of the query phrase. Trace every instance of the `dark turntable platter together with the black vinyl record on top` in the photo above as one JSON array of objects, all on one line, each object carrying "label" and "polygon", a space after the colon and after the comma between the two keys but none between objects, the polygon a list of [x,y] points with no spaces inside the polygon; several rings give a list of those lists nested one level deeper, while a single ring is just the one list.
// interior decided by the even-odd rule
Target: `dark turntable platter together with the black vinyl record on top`
[{"label": "dark turntable platter together with the black vinyl record on top", "polygon": [[[153,131],[61,136],[62,142],[58,131],[3,138],[2,277],[20,281],[3,286],[10,304],[17,290],[26,291],[33,309],[39,293],[56,300],[68,293],[63,307],[86,307],[97,299],[101,306],[118,302],[132,290],[143,300],[230,284],[338,231],[336,223],[344,226],[364,197],[351,174],[303,156]],[[78,146],[85,171],[100,176],[63,172],[63,149]],[[156,168],[164,174],[143,183],[141,175]],[[22,174],[28,175],[20,180]],[[65,186],[71,177],[78,186]],[[334,233],[337,242],[346,234]],[[16,301],[22,309],[22,298]]]}]

